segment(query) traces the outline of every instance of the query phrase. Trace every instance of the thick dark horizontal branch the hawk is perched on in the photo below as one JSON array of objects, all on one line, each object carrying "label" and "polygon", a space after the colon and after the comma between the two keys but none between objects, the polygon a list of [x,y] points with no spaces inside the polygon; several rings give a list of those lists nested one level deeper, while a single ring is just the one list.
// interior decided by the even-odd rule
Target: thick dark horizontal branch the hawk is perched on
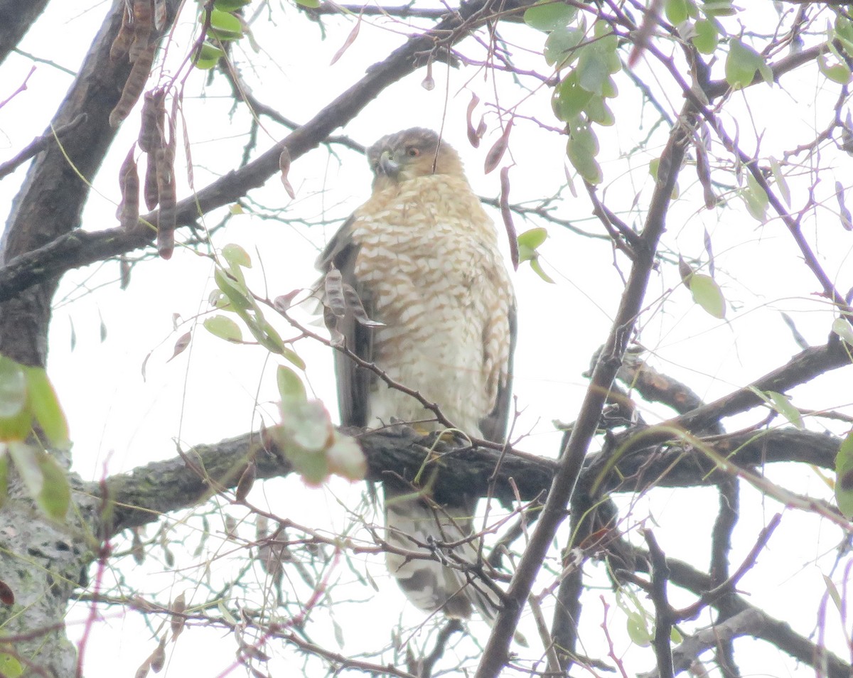
[{"label": "thick dark horizontal branch the hawk is perched on", "polygon": [[[432,450],[438,461],[431,462],[436,473],[435,498],[441,503],[460,492],[487,496],[490,476],[498,461],[492,492],[499,501],[515,501],[518,490],[522,501],[542,497],[553,481],[554,460],[509,450],[501,453],[489,448],[454,448],[452,443],[436,442],[412,429],[397,427],[359,436],[368,458],[368,477],[382,478],[392,472],[402,478],[414,478]],[[802,461],[832,469],[841,444],[838,438],[822,433],[781,429],[740,433],[708,442],[721,456],[739,466]],[[602,453],[589,455],[578,480],[588,488],[598,478],[604,462]],[[247,460],[258,466],[258,478],[278,478],[293,472],[280,449],[263,443],[258,433],[246,433],[219,443],[200,444],[170,460],[154,461],[134,471],[107,478],[110,497],[115,502],[110,532],[160,519],[164,513],[189,508],[220,490],[236,486]],[[620,461],[618,473],[601,485],[601,491],[636,492],[651,485],[691,487],[717,484],[721,478],[714,463],[695,450],[671,447],[649,450]],[[623,478],[619,478],[621,475]],[[92,494],[100,494],[96,484]]]}]

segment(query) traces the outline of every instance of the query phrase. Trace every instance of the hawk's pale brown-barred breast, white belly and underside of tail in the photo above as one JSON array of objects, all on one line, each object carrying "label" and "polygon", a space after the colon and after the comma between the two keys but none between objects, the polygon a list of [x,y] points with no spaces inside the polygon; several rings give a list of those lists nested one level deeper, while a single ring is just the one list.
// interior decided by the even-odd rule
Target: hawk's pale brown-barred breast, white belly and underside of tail
[{"label": "hawk's pale brown-barred breast, white belly and underside of tail", "polygon": [[[398,384],[438,404],[454,426],[479,437],[479,422],[506,383],[510,349],[513,293],[494,225],[465,179],[444,175],[374,195],[356,216],[352,237],[361,251],[355,275],[373,298],[373,319],[385,323],[374,330],[374,362]],[[415,397],[381,380],[369,395],[368,411],[372,427],[403,420],[421,429],[444,428]],[[472,531],[474,505],[467,503],[472,505],[436,511],[425,499],[386,492],[388,542],[423,552],[419,543],[459,541]],[[476,540],[457,547],[446,552],[448,561],[473,564],[478,548]],[[495,594],[463,571],[395,553],[386,560],[421,609],[467,617],[473,603],[487,619],[494,616]]]}]

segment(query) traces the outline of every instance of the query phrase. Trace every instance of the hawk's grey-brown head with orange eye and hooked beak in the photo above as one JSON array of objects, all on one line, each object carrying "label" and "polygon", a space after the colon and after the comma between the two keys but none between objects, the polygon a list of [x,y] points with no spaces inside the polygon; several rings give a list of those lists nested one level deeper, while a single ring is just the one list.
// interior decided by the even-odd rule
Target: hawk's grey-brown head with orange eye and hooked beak
[{"label": "hawk's grey-brown head with orange eye and hooked beak", "polygon": [[432,130],[413,127],[383,136],[368,148],[374,171],[374,190],[431,174],[462,176],[462,164],[453,148]]}]

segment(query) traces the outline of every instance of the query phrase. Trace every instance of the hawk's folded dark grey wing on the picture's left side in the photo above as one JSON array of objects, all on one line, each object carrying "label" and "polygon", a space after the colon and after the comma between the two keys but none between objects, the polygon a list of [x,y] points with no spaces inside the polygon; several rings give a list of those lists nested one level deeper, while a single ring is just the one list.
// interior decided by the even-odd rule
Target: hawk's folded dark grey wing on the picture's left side
[{"label": "hawk's folded dark grey wing on the picture's left side", "polygon": [[[353,223],[354,216],[348,218],[332,240],[328,241],[326,249],[317,258],[316,267],[322,270],[323,275],[332,266],[338,269],[344,284],[350,285],[358,294],[368,317],[373,317],[373,299],[357,281],[354,273],[359,246],[352,240]],[[346,349],[367,362],[374,362],[373,328],[357,322],[352,311],[347,308],[346,315],[338,318],[337,329],[344,336]],[[375,375],[359,367],[342,351],[334,351],[334,373],[338,384],[340,423],[343,426],[367,426],[369,392]]]}]

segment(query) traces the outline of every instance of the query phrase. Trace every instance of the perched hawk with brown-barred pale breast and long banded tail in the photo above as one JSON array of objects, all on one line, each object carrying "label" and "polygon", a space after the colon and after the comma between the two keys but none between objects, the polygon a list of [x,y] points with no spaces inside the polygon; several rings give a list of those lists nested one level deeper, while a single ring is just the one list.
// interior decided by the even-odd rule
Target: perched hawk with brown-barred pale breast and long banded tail
[{"label": "perched hawk with brown-barred pale breast and long banded tail", "polygon": [[[462,170],[459,156],[432,130],[382,137],[368,148],[373,194],[344,223],[317,266],[339,269],[371,320],[351,310],[337,329],[345,347],[394,382],[418,391],[463,432],[501,442],[506,435],[515,343],[515,302],[494,224]],[[440,430],[415,397],[335,352],[342,423],[377,427],[402,420]],[[438,507],[402,484],[383,483],[387,541],[432,559],[387,553],[388,570],[415,606],[468,617],[472,603],[487,619],[493,591],[465,571],[479,542],[444,550],[473,532],[477,497]],[[432,546],[432,549],[427,546]]]}]

